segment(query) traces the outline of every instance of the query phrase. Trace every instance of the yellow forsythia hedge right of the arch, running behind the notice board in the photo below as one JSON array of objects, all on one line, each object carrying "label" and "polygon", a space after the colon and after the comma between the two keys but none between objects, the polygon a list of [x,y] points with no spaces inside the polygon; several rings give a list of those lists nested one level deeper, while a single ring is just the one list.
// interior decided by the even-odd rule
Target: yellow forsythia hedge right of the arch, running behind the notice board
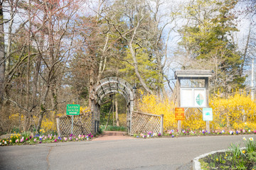
[{"label": "yellow forsythia hedge right of the arch, running behind the notice board", "polygon": [[[210,97],[209,105],[213,108],[213,121],[210,121],[211,130],[256,130],[256,104],[250,95],[238,91],[228,97],[220,97],[220,93]],[[155,95],[143,95],[139,100],[139,111],[155,115],[164,114],[164,130],[177,128],[174,120],[175,104],[169,98],[159,98]],[[203,114],[197,108],[189,108],[185,113],[186,120],[181,125],[183,129],[203,130],[206,122]]]}]

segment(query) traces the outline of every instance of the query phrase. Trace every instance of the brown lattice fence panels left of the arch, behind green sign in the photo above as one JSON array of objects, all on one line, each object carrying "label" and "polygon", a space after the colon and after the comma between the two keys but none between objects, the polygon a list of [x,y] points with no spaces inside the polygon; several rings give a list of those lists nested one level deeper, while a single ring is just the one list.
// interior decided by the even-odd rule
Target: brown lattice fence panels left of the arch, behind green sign
[{"label": "brown lattice fence panels left of the arch, behind green sign", "polygon": [[[63,115],[60,117],[59,129],[61,136],[71,134],[72,115]],[[82,113],[74,115],[73,135],[87,135],[92,132],[92,113]]]}]

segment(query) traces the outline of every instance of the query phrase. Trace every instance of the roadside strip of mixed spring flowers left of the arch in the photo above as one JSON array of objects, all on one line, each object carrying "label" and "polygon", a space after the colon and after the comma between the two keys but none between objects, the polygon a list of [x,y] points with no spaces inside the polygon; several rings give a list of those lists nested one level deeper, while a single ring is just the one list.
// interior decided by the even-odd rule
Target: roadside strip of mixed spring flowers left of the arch
[{"label": "roadside strip of mixed spring flowers left of the arch", "polygon": [[39,134],[33,135],[31,132],[23,132],[21,134],[14,132],[11,134],[11,137],[7,137],[0,140],[0,146],[4,145],[33,145],[39,143],[49,143],[49,142],[75,142],[75,141],[82,141],[82,140],[90,140],[92,139],[93,135],[78,135],[75,136],[70,134],[69,137],[58,137],[53,134],[46,135],[44,130],[40,130]]}]

